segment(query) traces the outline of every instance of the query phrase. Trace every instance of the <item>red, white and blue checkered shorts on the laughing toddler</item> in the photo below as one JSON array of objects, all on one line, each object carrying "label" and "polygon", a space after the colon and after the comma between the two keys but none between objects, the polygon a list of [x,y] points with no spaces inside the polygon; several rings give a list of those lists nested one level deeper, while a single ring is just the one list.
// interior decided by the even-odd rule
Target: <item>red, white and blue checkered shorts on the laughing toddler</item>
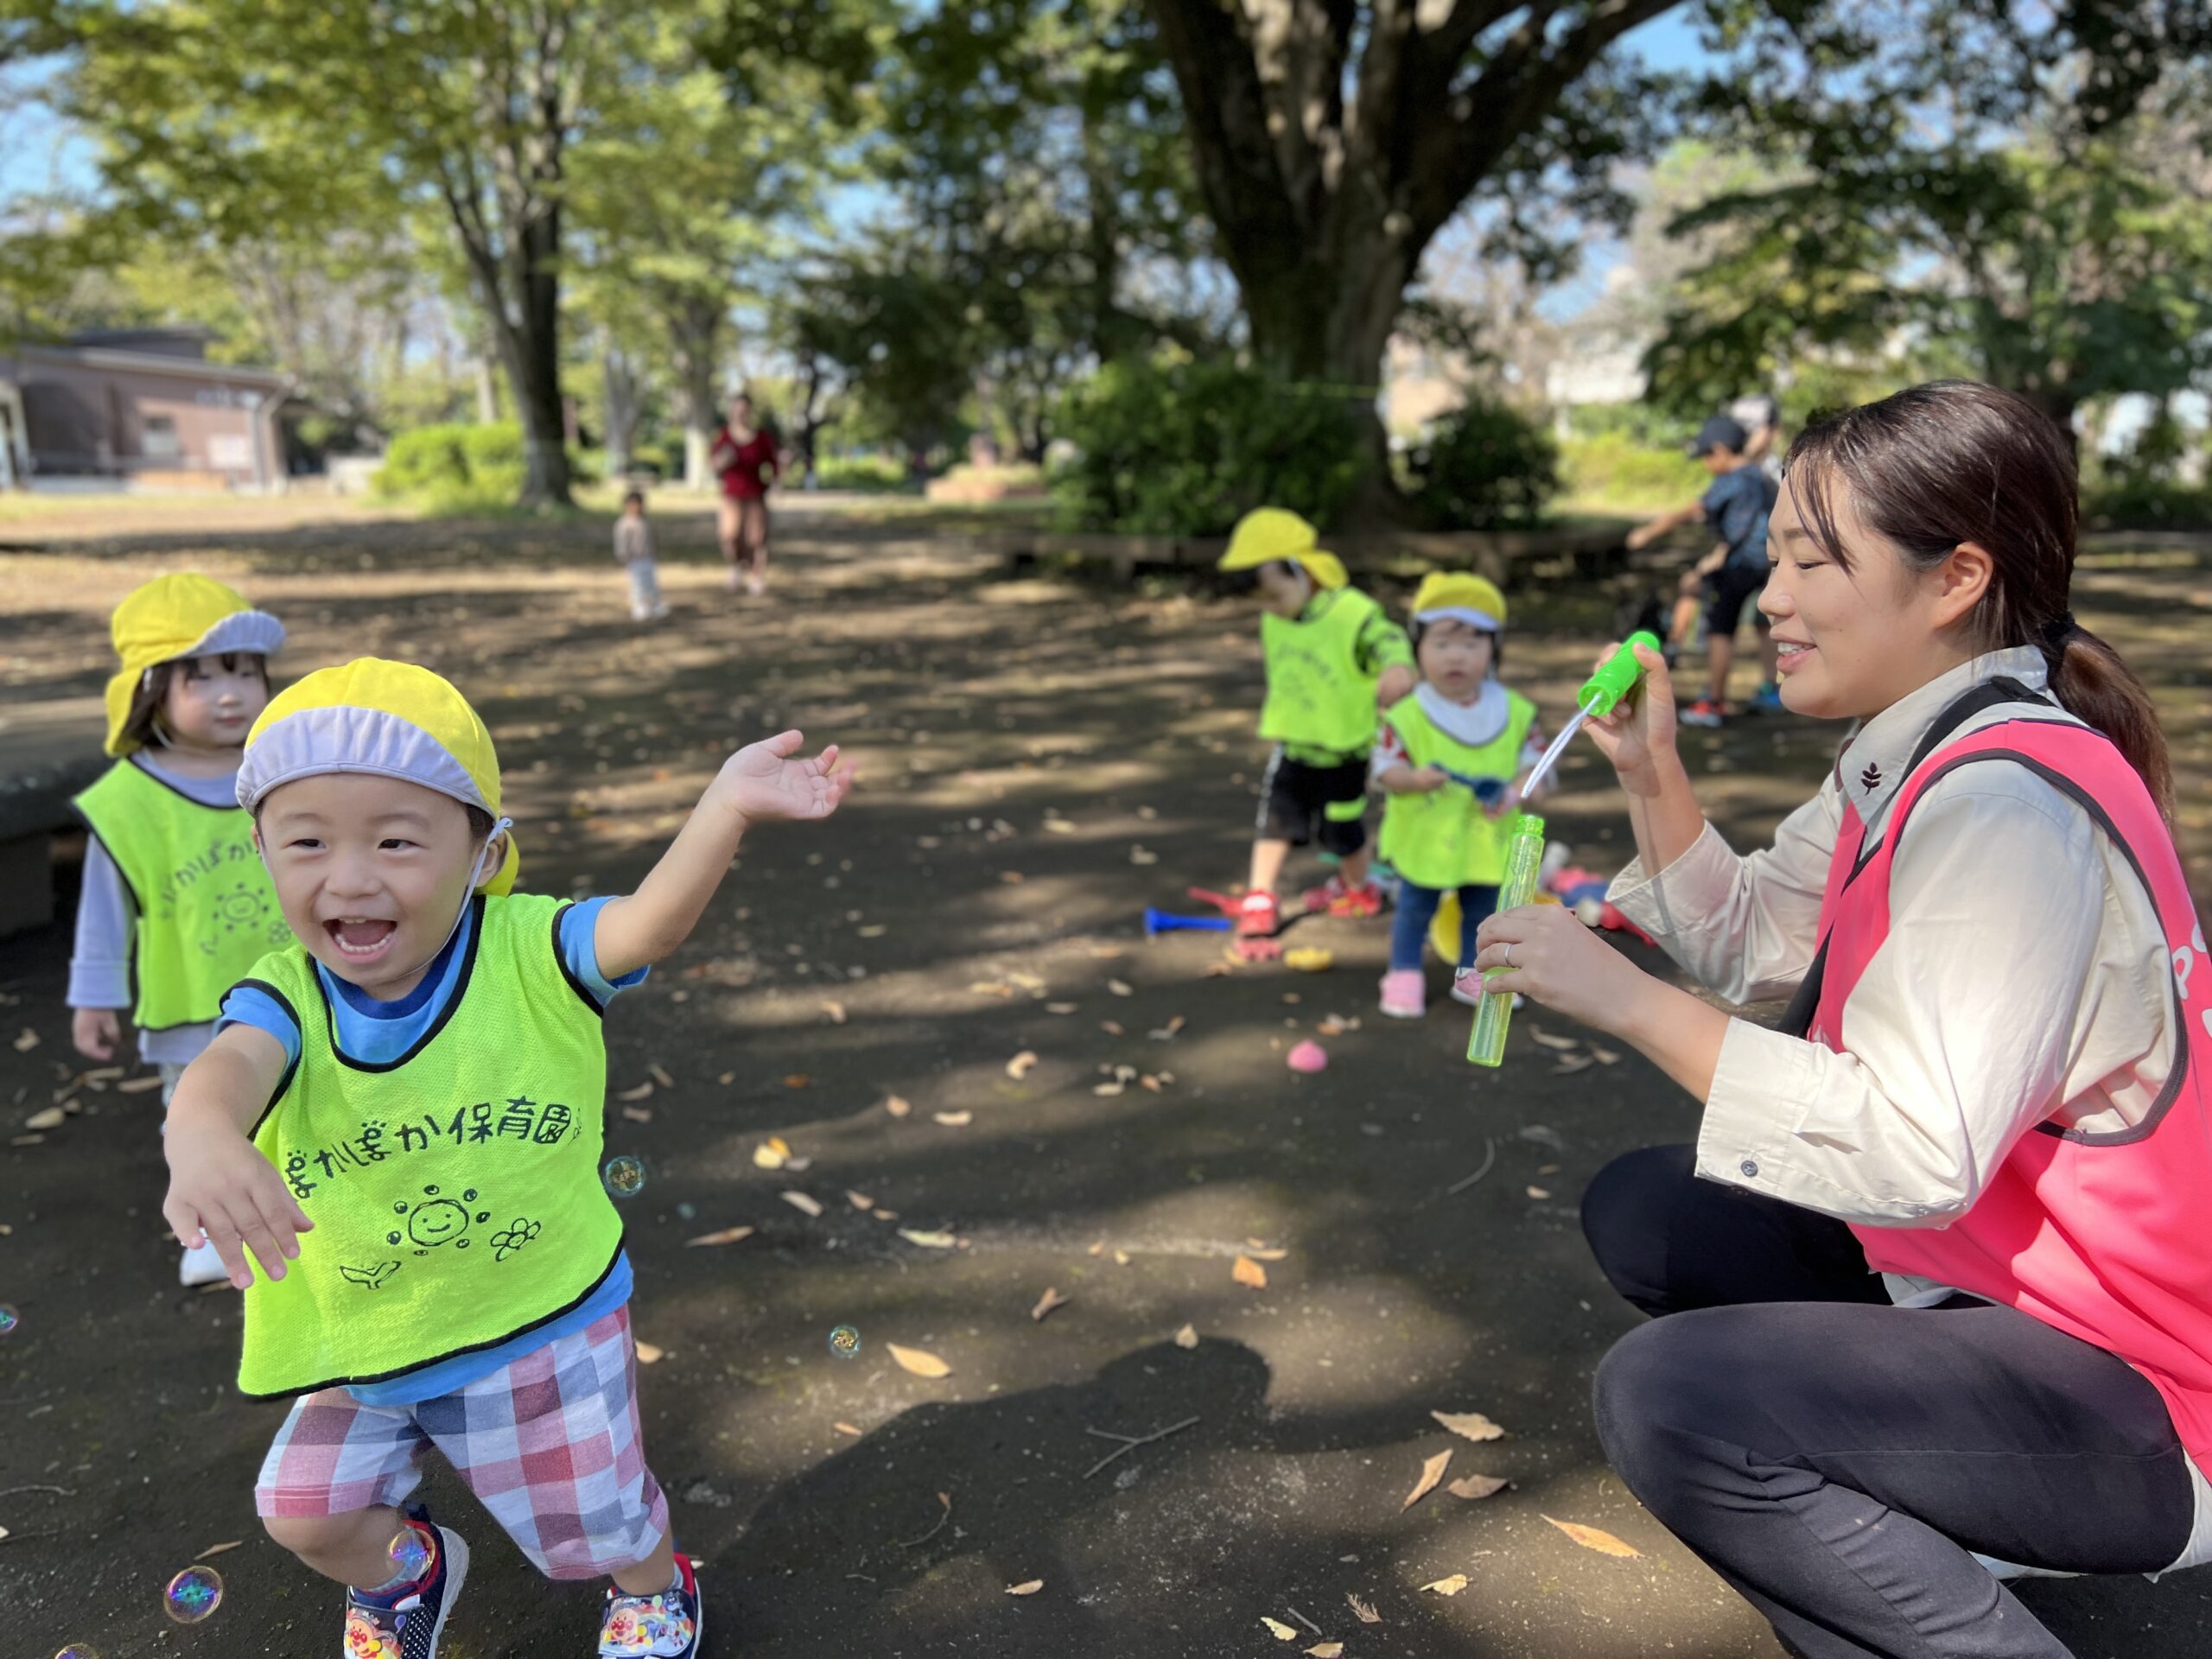
[{"label": "red, white and blue checkered shorts on the laughing toddler", "polygon": [[301,1396],[261,1464],[254,1506],[261,1515],[398,1506],[431,1447],[546,1577],[604,1577],[668,1533],[668,1500],[637,1427],[628,1307],[436,1400]]}]

